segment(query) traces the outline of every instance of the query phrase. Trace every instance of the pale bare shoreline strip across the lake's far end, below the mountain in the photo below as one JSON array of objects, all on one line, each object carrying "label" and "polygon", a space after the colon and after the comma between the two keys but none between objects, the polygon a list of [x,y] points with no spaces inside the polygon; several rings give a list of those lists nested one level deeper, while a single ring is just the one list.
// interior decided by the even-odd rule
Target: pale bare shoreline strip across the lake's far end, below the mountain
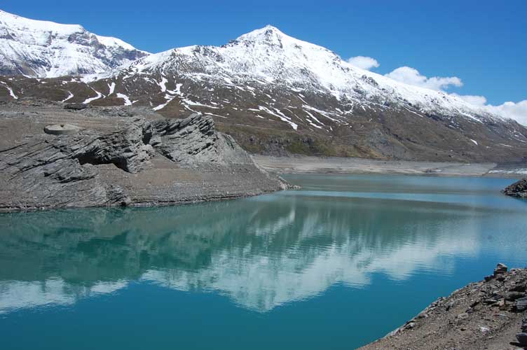
[{"label": "pale bare shoreline strip across the lake's far end, below the mountain", "polygon": [[268,172],[279,174],[403,174],[427,176],[488,176],[520,179],[527,176],[525,165],[496,163],[417,162],[411,160],[372,160],[364,158],[313,157],[296,155],[274,157],[252,155]]}]

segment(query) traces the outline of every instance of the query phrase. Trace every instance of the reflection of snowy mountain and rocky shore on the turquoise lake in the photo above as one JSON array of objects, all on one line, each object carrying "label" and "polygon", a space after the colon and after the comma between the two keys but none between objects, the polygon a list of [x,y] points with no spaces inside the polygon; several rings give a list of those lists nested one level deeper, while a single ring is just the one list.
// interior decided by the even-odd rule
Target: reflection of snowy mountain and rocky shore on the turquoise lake
[{"label": "reflection of snowy mountain and rocky shore on the turquoise lake", "polygon": [[[400,281],[423,269],[450,274],[445,256],[478,255],[488,230],[482,225],[502,230],[506,216],[525,209],[378,193],[328,196],[327,188],[313,195],[317,190],[184,207],[0,216],[0,313],[74,304],[130,281],[214,291],[266,312],[335,283],[362,288],[377,272]],[[497,216],[502,220],[489,221]]]}]

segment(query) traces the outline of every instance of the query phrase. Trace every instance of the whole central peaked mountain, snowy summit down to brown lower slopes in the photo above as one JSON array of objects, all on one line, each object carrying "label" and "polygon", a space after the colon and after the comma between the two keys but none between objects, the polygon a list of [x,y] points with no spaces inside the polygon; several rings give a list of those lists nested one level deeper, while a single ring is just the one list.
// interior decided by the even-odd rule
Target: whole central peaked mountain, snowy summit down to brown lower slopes
[{"label": "whole central peaked mountain, snowy summit down to brown lower slopes", "polygon": [[264,27],[222,45],[149,55],[82,77],[0,78],[0,99],[44,97],[202,112],[247,151],[271,155],[522,162],[527,130],[446,92],[351,66]]}]

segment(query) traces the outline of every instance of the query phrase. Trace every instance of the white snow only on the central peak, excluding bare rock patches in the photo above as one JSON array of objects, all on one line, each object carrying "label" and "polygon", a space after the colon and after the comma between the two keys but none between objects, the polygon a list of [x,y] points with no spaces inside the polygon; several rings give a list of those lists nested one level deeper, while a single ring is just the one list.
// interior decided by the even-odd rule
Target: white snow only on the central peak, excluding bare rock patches
[{"label": "white snow only on the central peak, excluding bare rock patches", "polygon": [[[283,55],[280,55],[280,57],[268,56],[265,57],[265,59],[258,59],[256,57],[258,57],[258,55],[262,57],[261,54],[264,53],[258,47],[259,45],[268,45],[269,48],[275,48],[278,51],[281,50]],[[294,52],[294,50],[284,50],[285,45],[299,49],[299,52]],[[252,47],[254,47],[255,50],[252,50]],[[240,48],[242,50],[240,50]],[[246,50],[243,50],[244,48]],[[289,73],[289,76],[285,79],[287,83],[292,83],[293,88],[302,88],[301,80],[303,78],[306,78],[308,83],[310,80],[315,80],[315,83],[320,83],[322,87],[326,88],[329,93],[333,94],[337,99],[343,97],[343,94],[349,94],[350,96],[348,96],[348,98],[352,100],[352,102],[355,100],[355,102],[361,103],[362,101],[359,101],[359,98],[369,98],[370,96],[368,96],[368,94],[376,92],[377,94],[373,97],[381,96],[384,99],[390,100],[390,96],[395,96],[396,99],[392,100],[398,100],[397,102],[406,101],[413,104],[421,103],[423,105],[432,102],[449,112],[458,109],[461,113],[472,113],[487,118],[500,118],[500,116],[486,111],[486,109],[481,106],[472,105],[469,102],[446,92],[400,83],[391,78],[382,76],[381,74],[352,66],[331,50],[287,36],[287,34],[284,34],[280,29],[271,25],[243,34],[235,40],[229,41],[229,43],[221,46],[191,45],[159,52],[150,55],[149,57],[139,59],[137,62],[132,62],[129,66],[123,67],[121,71],[116,73],[122,73],[127,69],[135,69],[136,73],[142,73],[145,70],[148,71],[156,68],[164,70],[167,62],[170,61],[171,57],[174,55],[187,55],[189,57],[193,56],[194,58],[200,58],[194,55],[196,52],[203,52],[204,56],[214,53],[220,56],[235,57],[234,62],[232,62],[230,66],[224,67],[226,69],[221,72],[222,74],[234,71],[233,65],[238,64],[239,67],[245,69],[242,73],[252,74],[253,76],[256,76],[256,78],[266,80],[268,83],[273,82],[273,80],[279,80],[280,73],[283,73],[280,69],[284,69],[284,65],[287,64],[287,62],[293,62],[294,64],[292,64],[292,66],[296,65],[301,67],[301,69],[307,69],[309,73],[315,73],[316,76],[310,76],[309,74],[307,76],[301,76],[301,72],[291,71],[290,69],[285,72]],[[306,53],[311,54],[310,57],[306,57]],[[255,55],[256,57],[254,57]],[[301,57],[301,55],[304,57]],[[324,57],[324,55],[326,55],[326,57]],[[284,57],[285,59],[283,59]],[[275,62],[273,62],[275,64],[274,66],[268,64],[268,58],[275,60]],[[305,62],[301,62],[301,59],[303,58],[306,58],[304,59]],[[224,57],[221,58],[222,61],[224,61],[224,59]],[[178,62],[174,63],[177,64]],[[205,66],[205,64],[202,66]],[[221,68],[221,64],[219,66]],[[266,70],[262,69],[262,67]],[[207,67],[204,68],[206,71]],[[209,69],[211,69],[211,67],[209,67]],[[350,77],[346,76],[346,74],[339,74],[341,71],[344,73],[352,72],[353,76]],[[217,73],[217,71],[212,71],[212,73]],[[226,80],[226,82],[228,83],[228,80]],[[378,94],[378,91],[374,90],[379,85],[384,88],[388,87],[390,91],[387,94]],[[361,92],[357,92],[358,89],[362,90],[361,92],[365,92],[367,95],[361,96]],[[382,88],[377,90],[382,90]],[[429,95],[430,98],[426,101],[426,97]],[[446,100],[446,103],[442,100]],[[451,106],[449,106],[449,104]]]}]

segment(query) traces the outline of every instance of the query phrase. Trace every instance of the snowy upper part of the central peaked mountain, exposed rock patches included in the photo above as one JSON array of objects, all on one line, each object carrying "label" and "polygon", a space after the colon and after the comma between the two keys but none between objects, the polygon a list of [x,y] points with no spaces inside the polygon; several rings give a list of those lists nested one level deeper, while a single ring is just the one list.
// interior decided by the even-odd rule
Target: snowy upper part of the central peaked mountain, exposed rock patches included
[{"label": "snowy upper part of the central peaked mountain, exposed rock patches included", "polygon": [[[352,113],[361,106],[394,103],[427,113],[460,113],[478,120],[494,117],[481,106],[451,94],[359,69],[326,48],[287,36],[272,26],[221,47],[195,45],[151,55],[123,71],[127,76],[160,73],[226,86],[278,85],[292,92],[326,94],[346,107],[344,113],[336,111],[336,115]],[[116,75],[123,75],[123,71]]]}]

